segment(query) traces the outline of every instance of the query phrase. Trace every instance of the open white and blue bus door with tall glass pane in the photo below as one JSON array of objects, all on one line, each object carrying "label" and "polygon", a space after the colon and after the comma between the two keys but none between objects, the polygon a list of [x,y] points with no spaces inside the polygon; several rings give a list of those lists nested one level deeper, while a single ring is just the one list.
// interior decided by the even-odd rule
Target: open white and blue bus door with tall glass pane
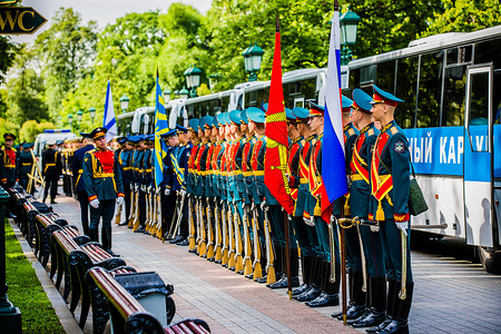
[{"label": "open white and blue bus door with tall glass pane", "polygon": [[492,65],[468,68],[464,121],[466,243],[492,247]]}]

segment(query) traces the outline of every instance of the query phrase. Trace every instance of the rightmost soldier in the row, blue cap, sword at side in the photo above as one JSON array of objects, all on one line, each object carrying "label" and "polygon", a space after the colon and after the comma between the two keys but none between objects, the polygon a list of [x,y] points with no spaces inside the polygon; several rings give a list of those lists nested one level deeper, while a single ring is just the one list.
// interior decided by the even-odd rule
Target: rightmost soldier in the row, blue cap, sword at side
[{"label": "rightmost soldier in the row, blue cap, sword at side", "polygon": [[[407,317],[414,289],[407,207],[410,153],[407,139],[394,120],[395,108],[403,100],[375,85],[373,89],[371,111],[374,119],[381,122],[382,129],[374,144],[371,161],[372,196],[369,218],[380,223],[386,278],[390,282],[387,308],[391,312],[385,322],[371,332],[409,333]],[[405,264],[402,263],[402,255]]]}]

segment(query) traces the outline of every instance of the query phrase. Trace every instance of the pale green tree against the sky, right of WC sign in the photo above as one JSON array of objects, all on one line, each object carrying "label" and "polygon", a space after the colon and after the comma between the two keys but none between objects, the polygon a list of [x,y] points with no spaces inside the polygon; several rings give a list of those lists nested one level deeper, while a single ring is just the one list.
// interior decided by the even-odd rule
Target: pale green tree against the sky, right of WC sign
[{"label": "pale green tree against the sky, right of WC sign", "polygon": [[81,17],[72,8],[60,8],[50,29],[36,40],[36,51],[41,57],[46,78],[47,105],[52,118],[59,115],[61,101],[68,91],[91,71],[96,55],[97,23],[81,26]]}]

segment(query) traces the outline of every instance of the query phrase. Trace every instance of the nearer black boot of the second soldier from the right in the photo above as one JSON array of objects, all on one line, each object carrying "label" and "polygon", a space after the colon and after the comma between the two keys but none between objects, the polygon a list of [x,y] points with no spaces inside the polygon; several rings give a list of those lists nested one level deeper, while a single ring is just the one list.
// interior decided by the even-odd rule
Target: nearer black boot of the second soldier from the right
[{"label": "nearer black boot of the second soldier from the right", "polygon": [[386,279],[371,277],[370,279],[370,313],[352,324],[353,327],[373,327],[384,322],[386,315]]}]

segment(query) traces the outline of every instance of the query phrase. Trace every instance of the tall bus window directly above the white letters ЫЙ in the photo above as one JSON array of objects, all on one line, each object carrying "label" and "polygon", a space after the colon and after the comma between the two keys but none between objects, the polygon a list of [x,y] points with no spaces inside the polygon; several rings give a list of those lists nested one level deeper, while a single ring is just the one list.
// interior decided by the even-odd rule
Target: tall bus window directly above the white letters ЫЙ
[{"label": "tall bus window directly above the white letters \u042b\u0419", "polygon": [[443,51],[421,56],[416,127],[438,127],[442,97]]}]

